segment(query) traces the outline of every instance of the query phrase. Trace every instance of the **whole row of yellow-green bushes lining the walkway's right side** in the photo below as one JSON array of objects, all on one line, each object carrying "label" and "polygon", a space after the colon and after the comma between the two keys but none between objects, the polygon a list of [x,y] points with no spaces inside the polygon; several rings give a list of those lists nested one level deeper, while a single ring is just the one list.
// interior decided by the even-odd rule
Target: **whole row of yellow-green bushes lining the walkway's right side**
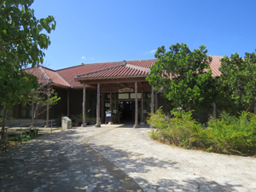
[{"label": "whole row of yellow-green bushes lining the walkway's right side", "polygon": [[256,154],[256,115],[241,112],[239,117],[222,113],[220,119],[211,119],[208,127],[191,117],[191,112],[173,112],[166,117],[160,108],[150,114],[148,124],[155,127],[150,137],[183,148],[201,148],[223,154]]}]

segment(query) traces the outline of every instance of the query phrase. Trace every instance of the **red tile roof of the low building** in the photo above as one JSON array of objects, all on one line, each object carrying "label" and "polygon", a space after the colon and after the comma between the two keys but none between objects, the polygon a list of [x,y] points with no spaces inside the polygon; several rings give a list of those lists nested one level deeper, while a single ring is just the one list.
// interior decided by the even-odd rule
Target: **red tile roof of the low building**
[{"label": "red tile roof of the low building", "polygon": [[[218,68],[221,66],[220,59],[222,56],[212,56],[210,67],[214,77],[221,73]],[[74,67],[67,67],[59,70],[51,70],[47,67],[28,68],[26,71],[38,76],[40,83],[48,82],[73,87],[81,88],[80,84],[75,79],[104,79],[104,78],[121,78],[121,77],[135,77],[147,76],[150,72],[150,67],[154,65],[157,59],[149,60],[133,60],[133,61],[113,61],[93,64],[82,64]]]}]

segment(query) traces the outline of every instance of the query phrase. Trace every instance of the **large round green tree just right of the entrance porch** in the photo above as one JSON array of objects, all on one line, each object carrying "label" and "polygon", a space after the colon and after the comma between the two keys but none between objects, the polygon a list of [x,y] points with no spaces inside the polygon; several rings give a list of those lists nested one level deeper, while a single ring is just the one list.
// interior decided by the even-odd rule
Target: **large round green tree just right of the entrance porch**
[{"label": "large round green tree just right of the entrance porch", "polygon": [[158,61],[147,77],[154,90],[162,90],[173,105],[183,110],[212,108],[216,96],[216,79],[212,77],[206,46],[190,51],[186,44],[173,44],[170,51],[159,47]]}]

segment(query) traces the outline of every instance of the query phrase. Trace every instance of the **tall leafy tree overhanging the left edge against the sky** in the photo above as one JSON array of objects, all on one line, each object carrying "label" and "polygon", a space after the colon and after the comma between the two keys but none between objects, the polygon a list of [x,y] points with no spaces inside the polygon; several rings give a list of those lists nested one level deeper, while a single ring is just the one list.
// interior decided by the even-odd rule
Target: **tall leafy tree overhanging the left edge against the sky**
[{"label": "tall leafy tree overhanging the left edge against the sky", "polygon": [[[29,8],[32,3],[33,0],[0,0],[0,106],[4,110],[25,102],[27,91],[38,88],[36,77],[23,68],[43,63],[43,49],[50,44],[43,30],[55,30],[54,17],[38,20]],[[3,129],[4,122],[2,139]]]}]

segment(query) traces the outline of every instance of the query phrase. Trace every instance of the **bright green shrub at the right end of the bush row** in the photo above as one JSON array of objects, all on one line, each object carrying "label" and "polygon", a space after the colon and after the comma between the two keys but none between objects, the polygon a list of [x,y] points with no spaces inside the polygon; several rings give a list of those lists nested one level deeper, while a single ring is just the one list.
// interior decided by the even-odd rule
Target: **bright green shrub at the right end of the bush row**
[{"label": "bright green shrub at the right end of the bush row", "polygon": [[256,115],[241,112],[239,117],[222,113],[208,122],[204,138],[208,151],[224,154],[256,153]]}]

